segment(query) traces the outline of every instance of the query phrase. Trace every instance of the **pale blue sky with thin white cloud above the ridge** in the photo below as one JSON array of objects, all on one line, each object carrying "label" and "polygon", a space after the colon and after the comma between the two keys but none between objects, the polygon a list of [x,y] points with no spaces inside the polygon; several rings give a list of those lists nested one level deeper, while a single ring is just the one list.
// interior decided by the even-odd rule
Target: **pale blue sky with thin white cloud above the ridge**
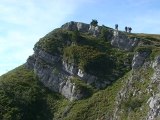
[{"label": "pale blue sky with thin white cloud above the ridge", "polygon": [[0,0],[0,75],[26,62],[34,44],[69,21],[160,34],[159,0]]}]

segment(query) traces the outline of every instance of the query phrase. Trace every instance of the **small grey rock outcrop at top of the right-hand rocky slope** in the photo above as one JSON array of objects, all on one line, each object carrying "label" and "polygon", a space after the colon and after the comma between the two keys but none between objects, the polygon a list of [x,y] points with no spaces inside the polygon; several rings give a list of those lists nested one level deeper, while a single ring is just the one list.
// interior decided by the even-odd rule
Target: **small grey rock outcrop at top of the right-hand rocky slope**
[{"label": "small grey rock outcrop at top of the right-hand rocky slope", "polygon": [[149,52],[136,52],[132,60],[132,69],[140,68],[149,54]]}]

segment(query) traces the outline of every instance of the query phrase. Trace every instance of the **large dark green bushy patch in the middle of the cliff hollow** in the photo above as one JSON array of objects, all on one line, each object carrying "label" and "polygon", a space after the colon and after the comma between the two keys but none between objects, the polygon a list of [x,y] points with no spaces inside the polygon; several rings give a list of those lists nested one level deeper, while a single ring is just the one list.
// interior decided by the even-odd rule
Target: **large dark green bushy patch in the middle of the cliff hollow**
[{"label": "large dark green bushy patch in the middle of the cliff hollow", "polygon": [[67,47],[64,49],[64,59],[69,63],[77,64],[89,74],[101,77],[110,74],[114,67],[110,57],[90,46]]}]

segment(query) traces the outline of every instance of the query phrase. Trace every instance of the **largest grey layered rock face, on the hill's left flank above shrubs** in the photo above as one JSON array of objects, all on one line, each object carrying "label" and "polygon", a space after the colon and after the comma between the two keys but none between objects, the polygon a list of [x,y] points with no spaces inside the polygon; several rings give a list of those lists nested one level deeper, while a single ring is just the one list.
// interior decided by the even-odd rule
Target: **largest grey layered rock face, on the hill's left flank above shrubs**
[{"label": "largest grey layered rock face, on the hill's left flank above shrubs", "polygon": [[63,70],[60,57],[35,48],[35,53],[28,58],[26,66],[34,69],[40,81],[49,89],[61,93],[71,101],[83,98],[84,95],[77,93],[75,84],[70,80],[72,70],[68,66],[67,71]]}]

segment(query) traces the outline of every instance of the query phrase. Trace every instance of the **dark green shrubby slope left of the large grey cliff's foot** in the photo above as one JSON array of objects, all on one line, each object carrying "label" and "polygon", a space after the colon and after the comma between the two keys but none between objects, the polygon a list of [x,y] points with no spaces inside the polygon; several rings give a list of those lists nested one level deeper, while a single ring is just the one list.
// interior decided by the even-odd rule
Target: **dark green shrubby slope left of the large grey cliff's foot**
[{"label": "dark green shrubby slope left of the large grey cliff's foot", "polygon": [[49,91],[33,71],[20,66],[0,77],[1,120],[50,120],[67,103]]}]

